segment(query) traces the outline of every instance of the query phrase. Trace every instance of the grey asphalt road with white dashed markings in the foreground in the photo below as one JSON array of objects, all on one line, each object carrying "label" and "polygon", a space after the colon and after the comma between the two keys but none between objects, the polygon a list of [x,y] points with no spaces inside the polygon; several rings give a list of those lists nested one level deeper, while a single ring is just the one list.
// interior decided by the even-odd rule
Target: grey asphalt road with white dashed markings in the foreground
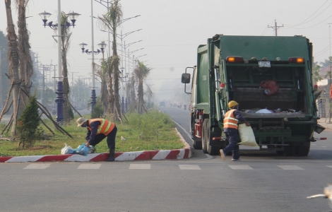
[{"label": "grey asphalt road with white dashed markings in the foreground", "polygon": [[[192,145],[189,111],[162,110]],[[327,199],[306,199],[332,183],[332,134],[320,136],[328,140],[307,157],[240,148],[239,162],[194,151],[189,160],[2,163],[0,211],[329,211]]]}]

